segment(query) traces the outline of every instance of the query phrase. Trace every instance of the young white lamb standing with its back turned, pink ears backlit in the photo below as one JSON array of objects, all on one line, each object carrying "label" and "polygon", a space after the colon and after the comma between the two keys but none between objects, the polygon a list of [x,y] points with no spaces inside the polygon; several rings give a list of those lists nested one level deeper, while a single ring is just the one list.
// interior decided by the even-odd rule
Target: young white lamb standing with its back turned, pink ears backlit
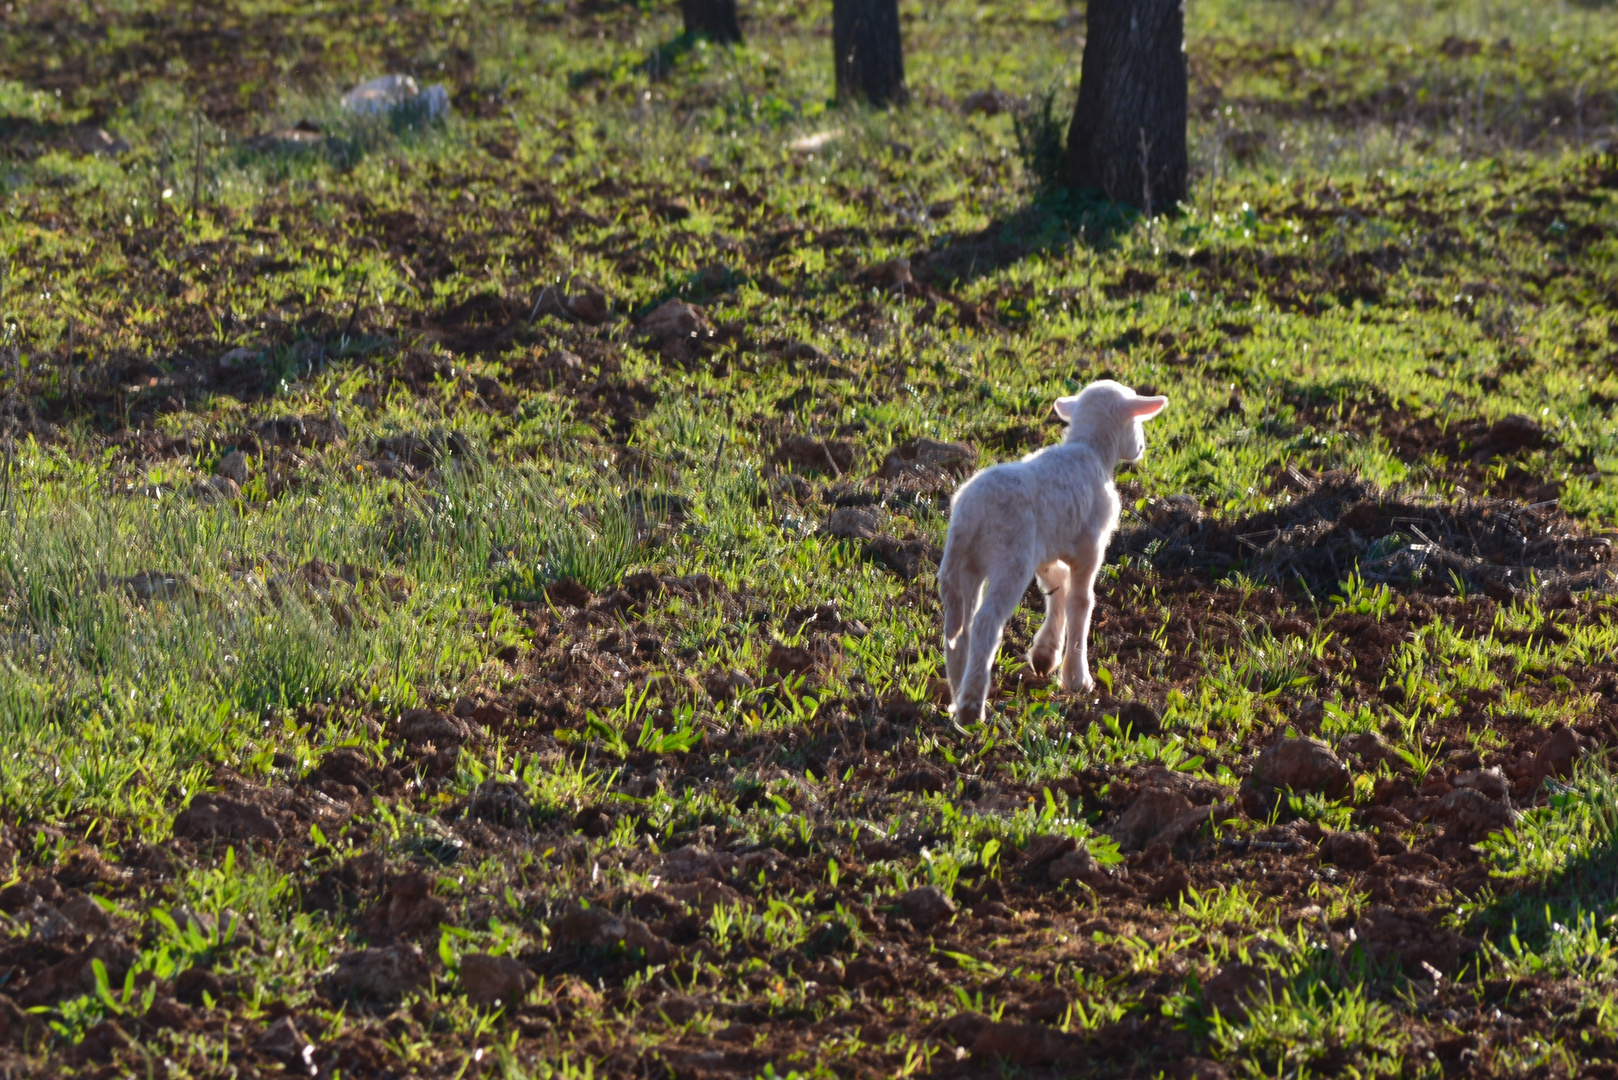
[{"label": "young white lamb standing with its back turned, pink ears backlit", "polygon": [[[1141,421],[1165,405],[1165,397],[1141,397],[1110,379],[1092,382],[1057,400],[1057,415],[1068,421],[1058,445],[982,470],[955,492],[938,591],[956,724],[982,719],[1002,631],[1036,575],[1045,622],[1027,653],[1029,667],[1044,675],[1061,659],[1065,690],[1095,687],[1086,641],[1095,572],[1118,526],[1113,470],[1146,453]],[[1069,623],[1073,648],[1063,659]]]}]

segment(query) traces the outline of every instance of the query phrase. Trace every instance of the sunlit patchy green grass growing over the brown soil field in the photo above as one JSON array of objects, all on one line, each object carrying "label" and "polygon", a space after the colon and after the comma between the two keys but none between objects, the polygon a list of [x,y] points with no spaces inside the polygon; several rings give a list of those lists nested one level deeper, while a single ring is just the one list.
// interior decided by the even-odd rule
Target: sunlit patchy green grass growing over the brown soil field
[{"label": "sunlit patchy green grass growing over the brown soil field", "polygon": [[[744,5],[738,49],[680,42],[650,5],[16,6],[0,876],[113,918],[47,938],[23,892],[0,904],[0,994],[37,1002],[5,1051],[21,1072],[273,1072],[256,1048],[282,1015],[345,1077],[1618,1059],[1610,580],[1563,597],[1552,555],[1511,594],[1476,567],[1396,576],[1377,567],[1434,542],[1400,520],[1311,593],[1252,525],[1341,473],[1404,505],[1557,499],[1547,551],[1603,551],[1612,8],[1197,0],[1192,196],[1142,220],[1048,185],[1082,36],[1057,5],[903,5],[896,112],[828,104],[822,3]],[[451,115],[346,117],[341,91],[387,70],[445,81]],[[1050,112],[955,105],[987,87]],[[320,146],[252,141],[301,120]],[[97,128],[129,149],[84,154]],[[864,274],[893,257],[903,291]],[[586,283],[604,324],[531,317]],[[715,335],[644,342],[671,296]],[[955,730],[932,563],[906,578],[822,526],[880,504],[883,536],[942,544],[948,487],[870,479],[887,453],[1014,457],[1103,376],[1171,400],[1120,478],[1125,528],[1189,504],[1254,533],[1201,573],[1167,539],[1103,570],[1105,696],[1024,678],[1019,612],[992,722]],[[1489,444],[1516,413],[1545,440]],[[849,440],[854,468],[794,478],[793,434]],[[241,497],[199,494],[233,449]],[[417,708],[477,730],[411,735]],[[1578,767],[1516,792],[1510,829],[1445,839],[1417,813],[1437,795],[1387,795],[1468,753],[1516,780],[1558,722]],[[1370,732],[1387,753],[1351,755]],[[1288,733],[1336,746],[1349,785],[1244,798]],[[1239,810],[1171,863],[1120,850],[1150,767]],[[280,840],[176,829],[207,792]],[[1324,865],[1328,831],[1370,834],[1380,870]],[[1023,857],[1048,834],[1116,876],[1052,884]],[[723,889],[668,879],[689,844],[736,857]],[[443,908],[395,934],[406,871]],[[959,907],[932,928],[901,904],[927,884]],[[647,936],[578,939],[586,904]],[[1388,912],[1438,967],[1375,959]],[[86,934],[115,946],[102,968],[42,989]],[[332,989],[337,957],[393,936],[430,978]],[[537,984],[472,1004],[479,952]],[[1265,989],[1214,1012],[1233,963]],[[173,996],[189,1018],[160,1023]],[[1032,1057],[997,1065],[951,1035],[972,1014],[1058,1049],[1023,1031]],[[134,1048],[95,1049],[100,1028],[76,1049],[108,1018]]]}]

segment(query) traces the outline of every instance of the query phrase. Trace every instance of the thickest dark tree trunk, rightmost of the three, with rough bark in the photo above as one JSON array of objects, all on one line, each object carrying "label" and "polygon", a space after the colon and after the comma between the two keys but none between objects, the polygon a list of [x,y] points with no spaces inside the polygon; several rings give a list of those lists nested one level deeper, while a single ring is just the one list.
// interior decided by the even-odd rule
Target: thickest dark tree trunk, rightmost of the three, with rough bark
[{"label": "thickest dark tree trunk, rightmost of the three, with rough bark", "polygon": [[1068,181],[1171,212],[1186,198],[1184,0],[1091,0]]}]

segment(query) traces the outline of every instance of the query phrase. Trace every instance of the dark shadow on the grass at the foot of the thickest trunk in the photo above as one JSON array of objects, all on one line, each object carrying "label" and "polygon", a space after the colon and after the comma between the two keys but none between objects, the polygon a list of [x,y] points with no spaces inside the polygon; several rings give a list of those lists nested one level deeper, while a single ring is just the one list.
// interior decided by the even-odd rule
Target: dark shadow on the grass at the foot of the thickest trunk
[{"label": "dark shadow on the grass at the foot of the thickest trunk", "polygon": [[1073,244],[1110,248],[1139,220],[1139,210],[1110,202],[1100,191],[1055,189],[976,233],[943,238],[913,262],[924,280],[964,285],[1031,254]]}]

